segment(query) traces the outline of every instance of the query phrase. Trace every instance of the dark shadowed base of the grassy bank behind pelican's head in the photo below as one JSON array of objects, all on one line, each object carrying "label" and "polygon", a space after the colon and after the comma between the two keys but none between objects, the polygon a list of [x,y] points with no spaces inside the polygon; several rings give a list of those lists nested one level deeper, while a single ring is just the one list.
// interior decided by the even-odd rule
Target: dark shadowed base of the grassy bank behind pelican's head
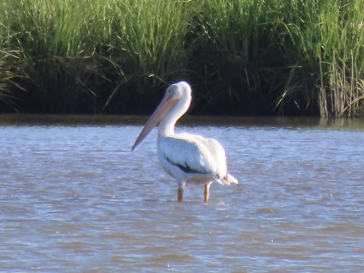
[{"label": "dark shadowed base of the grassy bank behind pelican's head", "polygon": [[[110,83],[105,84],[110,90],[116,88]],[[46,94],[34,94],[31,91],[21,90],[25,94],[14,95],[14,104],[0,102],[0,112],[2,113],[28,113],[28,114],[112,114],[112,115],[148,115],[154,111],[161,101],[167,84],[158,87],[151,87],[153,91],[146,98],[139,96],[137,92],[130,92],[123,98],[114,99],[107,104],[108,94],[99,94],[93,98],[87,92],[75,94],[70,100],[68,97],[49,96]],[[223,94],[213,94],[210,97],[209,87],[191,84],[193,88],[193,101],[189,110],[192,115],[222,115],[222,116],[319,116],[317,107],[300,110],[296,105],[285,104],[276,107],[276,100],[271,95],[250,94],[226,96]],[[50,87],[52,88],[52,87]],[[213,90],[217,92],[217,90]],[[11,91],[12,94],[19,94],[19,90]],[[93,93],[94,91],[92,91]],[[105,92],[106,93],[106,92]],[[221,92],[222,93],[222,92]]]}]

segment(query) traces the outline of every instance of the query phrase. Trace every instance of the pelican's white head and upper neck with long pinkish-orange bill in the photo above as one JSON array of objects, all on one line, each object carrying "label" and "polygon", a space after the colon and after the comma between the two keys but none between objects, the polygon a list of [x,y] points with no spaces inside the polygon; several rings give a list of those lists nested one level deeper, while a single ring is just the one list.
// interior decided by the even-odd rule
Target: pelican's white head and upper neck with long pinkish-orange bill
[{"label": "pelican's white head and upper neck with long pinkish-orange bill", "polygon": [[[174,124],[177,120],[185,114],[191,103],[191,87],[187,82],[177,82],[171,84],[167,90],[161,103],[155,109],[154,113],[150,116],[146,122],[142,132],[135,141],[131,150],[143,141],[143,139],[149,134],[149,132],[159,123],[161,120],[165,120],[163,131],[170,132],[174,129]],[[161,125],[160,125],[161,126]]]}]

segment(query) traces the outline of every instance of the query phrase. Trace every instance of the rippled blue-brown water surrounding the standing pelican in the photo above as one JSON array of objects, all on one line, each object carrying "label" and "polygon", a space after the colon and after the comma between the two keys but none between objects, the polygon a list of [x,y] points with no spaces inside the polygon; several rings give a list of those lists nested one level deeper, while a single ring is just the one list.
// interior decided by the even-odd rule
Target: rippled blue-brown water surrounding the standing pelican
[{"label": "rippled blue-brown water surrounding the standing pelican", "polygon": [[187,185],[181,203],[156,130],[130,151],[145,119],[2,120],[0,272],[364,270],[361,122],[182,123],[219,140],[240,184],[207,203]]}]

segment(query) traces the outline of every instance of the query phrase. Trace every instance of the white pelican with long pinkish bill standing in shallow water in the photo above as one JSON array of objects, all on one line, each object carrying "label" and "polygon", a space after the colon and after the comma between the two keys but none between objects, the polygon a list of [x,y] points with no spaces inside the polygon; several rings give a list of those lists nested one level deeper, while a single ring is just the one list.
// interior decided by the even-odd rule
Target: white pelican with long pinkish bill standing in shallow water
[{"label": "white pelican with long pinkish bill standing in shallow water", "polygon": [[183,199],[186,183],[198,183],[205,184],[203,195],[207,202],[213,181],[226,185],[237,184],[238,181],[226,172],[225,151],[215,139],[174,133],[175,123],[190,107],[191,92],[187,82],[170,85],[131,150],[160,122],[157,137],[158,158],[163,169],[178,182],[178,201]]}]

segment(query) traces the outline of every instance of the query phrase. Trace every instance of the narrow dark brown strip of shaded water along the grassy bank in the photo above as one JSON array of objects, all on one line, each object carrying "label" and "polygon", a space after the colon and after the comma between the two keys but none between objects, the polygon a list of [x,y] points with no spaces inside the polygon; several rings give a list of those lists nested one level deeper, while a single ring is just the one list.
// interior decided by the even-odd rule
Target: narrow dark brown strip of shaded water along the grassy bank
[{"label": "narrow dark brown strip of shaded water along the grassy bank", "polygon": [[[148,118],[148,115],[0,114],[0,126],[129,126],[138,124],[139,126],[143,126]],[[317,117],[282,116],[204,116],[187,114],[178,120],[177,127],[183,126],[321,128],[364,131],[364,119],[322,119]]]}]

